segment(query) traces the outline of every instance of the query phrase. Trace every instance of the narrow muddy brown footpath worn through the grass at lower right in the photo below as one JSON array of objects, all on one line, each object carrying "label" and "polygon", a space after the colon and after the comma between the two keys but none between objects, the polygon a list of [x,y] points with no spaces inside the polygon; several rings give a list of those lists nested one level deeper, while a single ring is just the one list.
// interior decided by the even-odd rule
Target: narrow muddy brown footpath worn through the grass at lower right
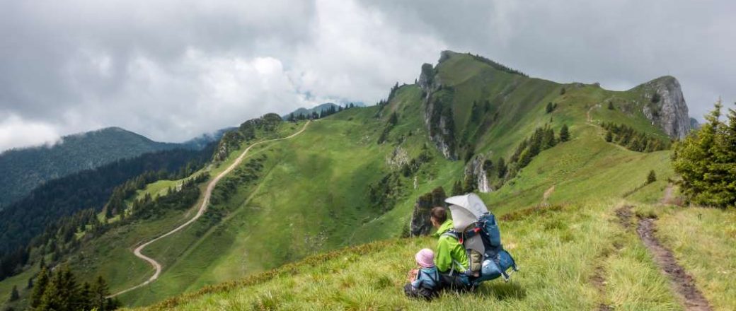
[{"label": "narrow muddy brown footpath worn through the grass at lower right", "polygon": [[[616,210],[616,215],[619,218],[619,223],[624,228],[629,229],[633,225],[631,223],[631,206],[621,207]],[[693,277],[687,274],[687,271],[682,268],[675,256],[672,254],[670,249],[666,248],[659,243],[659,239],[654,235],[657,230],[654,220],[656,218],[642,218],[639,217],[639,222],[636,227],[637,235],[640,240],[644,243],[646,249],[651,253],[654,262],[659,266],[659,270],[670,279],[670,284],[673,287],[674,293],[676,294],[679,301],[682,302],[682,306],[685,310],[692,311],[710,311],[712,307],[705,299],[703,293],[698,290],[695,285]]]}]

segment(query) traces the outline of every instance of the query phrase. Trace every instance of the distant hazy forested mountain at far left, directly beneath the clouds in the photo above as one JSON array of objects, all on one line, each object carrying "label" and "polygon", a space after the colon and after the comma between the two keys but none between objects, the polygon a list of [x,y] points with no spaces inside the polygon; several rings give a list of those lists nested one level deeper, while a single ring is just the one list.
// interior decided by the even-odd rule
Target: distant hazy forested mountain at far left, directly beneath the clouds
[{"label": "distant hazy forested mountain at far left, directly beneath the clouds", "polygon": [[38,185],[78,171],[146,152],[174,149],[118,127],[69,135],[53,146],[12,149],[0,154],[0,210],[23,198]]}]

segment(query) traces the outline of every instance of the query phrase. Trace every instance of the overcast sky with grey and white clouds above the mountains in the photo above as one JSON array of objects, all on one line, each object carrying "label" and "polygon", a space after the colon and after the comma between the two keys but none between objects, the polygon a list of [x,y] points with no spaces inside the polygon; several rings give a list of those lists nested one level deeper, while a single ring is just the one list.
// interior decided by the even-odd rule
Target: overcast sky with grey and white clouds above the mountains
[{"label": "overcast sky with grey and white clouds above the mountains", "polygon": [[[736,99],[732,1],[0,0],[0,150],[121,126],[183,141],[266,112],[387,96],[439,51],[625,90]],[[733,107],[731,104],[728,107]]]}]

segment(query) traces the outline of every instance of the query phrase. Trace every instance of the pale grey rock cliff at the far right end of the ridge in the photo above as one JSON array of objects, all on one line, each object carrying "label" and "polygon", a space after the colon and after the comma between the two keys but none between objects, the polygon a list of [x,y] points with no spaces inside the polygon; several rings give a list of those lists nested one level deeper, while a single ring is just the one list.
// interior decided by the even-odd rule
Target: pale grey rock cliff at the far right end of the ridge
[{"label": "pale grey rock cliff at the far right end of the ridge", "polygon": [[646,103],[643,112],[652,124],[673,138],[684,138],[690,132],[690,115],[682,96],[680,83],[672,76],[662,76],[641,85]]}]

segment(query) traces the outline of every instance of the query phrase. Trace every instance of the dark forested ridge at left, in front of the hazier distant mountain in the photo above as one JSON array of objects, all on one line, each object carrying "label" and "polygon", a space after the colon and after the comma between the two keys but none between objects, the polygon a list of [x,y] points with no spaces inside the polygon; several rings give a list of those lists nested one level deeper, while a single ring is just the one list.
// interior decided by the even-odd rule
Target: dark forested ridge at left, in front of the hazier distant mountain
[{"label": "dark forested ridge at left, in front of the hazier distant mountain", "polygon": [[[202,168],[214,145],[202,150],[174,149],[117,160],[102,167],[54,179],[29,196],[0,211],[0,279],[21,273],[29,260],[52,261],[69,251],[79,230],[96,224],[108,206],[112,217],[117,193],[135,193],[137,187],[160,179],[178,179]],[[135,177],[135,178],[134,178]],[[126,183],[129,179],[133,182]],[[99,222],[100,225],[104,224]],[[94,226],[93,226],[94,227]],[[92,228],[97,229],[97,228]],[[74,243],[73,243],[74,244]]]}]

